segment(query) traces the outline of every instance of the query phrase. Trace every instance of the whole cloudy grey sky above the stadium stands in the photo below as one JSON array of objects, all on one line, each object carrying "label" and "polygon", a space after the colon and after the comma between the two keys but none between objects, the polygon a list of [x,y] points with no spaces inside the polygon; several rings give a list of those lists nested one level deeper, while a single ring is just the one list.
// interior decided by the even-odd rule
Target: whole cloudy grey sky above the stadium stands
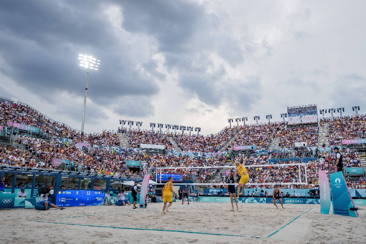
[{"label": "whole cloudy grey sky above the stadium stands", "polygon": [[365,1],[2,1],[0,96],[81,129],[83,53],[101,60],[89,75],[86,132],[117,129],[121,119],[142,121],[145,129],[153,122],[217,133],[228,118],[253,123],[259,115],[265,122],[272,114],[280,121],[287,106],[307,104],[344,107],[345,115],[359,105],[363,113],[365,7]]}]

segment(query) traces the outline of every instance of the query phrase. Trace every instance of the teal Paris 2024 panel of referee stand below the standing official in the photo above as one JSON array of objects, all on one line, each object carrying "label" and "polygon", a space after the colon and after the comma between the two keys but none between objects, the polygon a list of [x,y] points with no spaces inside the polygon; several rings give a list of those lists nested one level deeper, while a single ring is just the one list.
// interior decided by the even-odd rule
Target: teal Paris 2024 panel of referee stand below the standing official
[{"label": "teal Paris 2024 panel of referee stand below the standing official", "polygon": [[350,207],[354,206],[343,177],[343,172],[329,174],[329,177],[330,187],[332,188],[333,214],[357,217],[357,212],[350,210]]}]

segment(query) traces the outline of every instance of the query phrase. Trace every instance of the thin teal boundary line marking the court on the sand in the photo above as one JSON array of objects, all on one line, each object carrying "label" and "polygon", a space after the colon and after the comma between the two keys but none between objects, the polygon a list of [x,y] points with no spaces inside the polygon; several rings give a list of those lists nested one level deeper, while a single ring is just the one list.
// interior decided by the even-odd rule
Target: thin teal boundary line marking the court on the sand
[{"label": "thin teal boundary line marking the court on the sand", "polygon": [[[187,207],[179,207],[174,209],[183,209]],[[267,239],[270,236],[273,236],[277,232],[279,232],[281,229],[285,228],[287,225],[294,222],[296,219],[298,219],[301,215],[309,212],[313,208],[310,208],[306,210],[305,212],[298,215],[296,218],[292,219],[290,222],[282,226],[281,228],[275,230],[275,232],[269,234],[266,237],[258,237],[258,236],[242,236],[242,235],[235,235],[235,234],[219,234],[219,233],[205,233],[205,232],[193,232],[193,231],[186,231],[186,230],[163,230],[163,229],[145,229],[145,228],[128,228],[128,227],[114,227],[114,226],[103,226],[103,225],[83,225],[83,224],[70,224],[70,223],[60,223],[60,222],[51,222],[51,221],[41,221],[45,219],[59,219],[59,218],[77,218],[77,217],[87,217],[87,216],[96,216],[96,215],[105,215],[105,214],[92,214],[92,215],[79,215],[79,216],[70,216],[70,217],[56,217],[56,218],[45,218],[45,219],[29,219],[28,221],[34,221],[34,222],[40,222],[40,223],[50,223],[50,224],[61,224],[61,225],[76,225],[76,226],[89,226],[89,227],[102,227],[102,228],[112,228],[112,229],[127,229],[127,230],[155,230],[155,231],[166,231],[166,232],[180,232],[180,233],[190,233],[190,234],[207,234],[207,235],[215,235],[215,236],[237,236],[237,237],[250,237],[250,238],[256,238],[256,239]],[[135,213],[135,212],[143,212],[143,211],[152,211],[152,210],[158,210],[158,209],[149,209],[149,210],[138,210],[134,212],[122,212],[122,213]],[[108,213],[108,214],[116,214],[116,213]],[[120,213],[117,213],[120,214]]]}]

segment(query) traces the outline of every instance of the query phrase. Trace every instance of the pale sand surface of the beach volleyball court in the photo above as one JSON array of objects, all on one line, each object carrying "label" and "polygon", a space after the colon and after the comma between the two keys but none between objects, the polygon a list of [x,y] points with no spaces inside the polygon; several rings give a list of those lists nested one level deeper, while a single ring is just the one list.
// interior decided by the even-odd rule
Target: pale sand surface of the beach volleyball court
[{"label": "pale sand surface of the beach volleyball court", "polygon": [[[86,206],[66,210],[2,210],[1,243],[365,243],[366,210],[361,218],[320,214],[320,205],[286,204],[276,210],[272,204],[240,203],[241,213],[229,212],[227,203],[174,203],[161,216],[162,203],[151,203],[145,211],[131,207]],[[287,225],[301,213],[309,212]],[[75,218],[63,218],[90,215]],[[235,234],[248,237],[217,236],[153,230],[113,229],[80,225],[27,221],[116,226],[126,228],[184,230]],[[262,237],[262,238],[251,238]]]}]

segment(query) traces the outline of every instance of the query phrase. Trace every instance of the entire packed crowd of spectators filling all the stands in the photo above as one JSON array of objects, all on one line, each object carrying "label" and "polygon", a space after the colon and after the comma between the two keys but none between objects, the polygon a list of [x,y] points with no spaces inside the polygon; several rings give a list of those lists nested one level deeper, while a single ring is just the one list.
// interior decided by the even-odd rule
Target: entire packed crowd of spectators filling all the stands
[{"label": "entire packed crowd of spectators filling all the stands", "polygon": [[[75,146],[76,142],[87,142],[97,146],[118,146],[119,138],[116,133],[104,131],[102,134],[84,134],[68,127],[65,124],[53,121],[38,111],[26,105],[17,105],[1,102],[0,126],[1,131],[8,133],[12,125],[9,122],[27,124],[40,128],[45,133],[72,140],[67,143],[64,140],[44,140],[35,135],[19,134],[17,140],[19,146],[0,146],[0,164],[14,166],[28,166],[44,169],[57,169],[60,167],[57,159],[70,160],[69,169],[79,172],[100,173],[113,176],[141,176],[142,168],[127,168],[127,160],[146,161],[149,168],[153,168],[153,175],[161,167],[190,167],[190,166],[223,166],[227,162],[226,157],[195,158],[189,156],[164,154],[142,155],[134,153],[119,153],[117,150],[102,149],[101,147]],[[366,117],[342,117],[329,122],[330,144],[340,144],[341,139],[365,138]],[[163,144],[169,150],[174,150],[169,137],[173,137],[184,151],[217,152],[227,150],[231,146],[257,145],[257,149],[267,149],[274,137],[280,138],[281,147],[292,147],[294,142],[307,142],[308,146],[317,144],[317,127],[291,127],[285,128],[283,123],[271,123],[250,125],[246,127],[227,127],[216,135],[173,135],[160,134],[148,131],[128,131],[127,135],[132,148],[137,148],[141,143]],[[228,148],[223,148],[235,135],[236,139]],[[22,150],[22,146],[25,150]],[[284,152],[283,152],[284,153]],[[349,149],[342,151],[345,167],[362,167],[361,158],[355,151]],[[273,155],[272,155],[273,156]],[[307,163],[307,177],[309,185],[288,185],[288,188],[314,188],[317,185],[318,170],[326,170],[327,173],[335,172],[335,161],[332,152],[321,152],[316,160]],[[246,165],[268,164],[269,154],[238,155],[234,162],[245,162]],[[282,162],[290,163],[290,162]],[[182,173],[185,179],[199,181],[201,183],[213,183],[214,185],[225,183],[226,178],[219,168],[207,169],[164,169],[163,173]],[[214,176],[221,173],[219,180],[213,180]],[[298,166],[266,166],[250,167],[249,183],[296,183],[299,174],[305,180],[304,169],[299,172]],[[362,182],[350,181],[352,188],[362,188]]]}]

